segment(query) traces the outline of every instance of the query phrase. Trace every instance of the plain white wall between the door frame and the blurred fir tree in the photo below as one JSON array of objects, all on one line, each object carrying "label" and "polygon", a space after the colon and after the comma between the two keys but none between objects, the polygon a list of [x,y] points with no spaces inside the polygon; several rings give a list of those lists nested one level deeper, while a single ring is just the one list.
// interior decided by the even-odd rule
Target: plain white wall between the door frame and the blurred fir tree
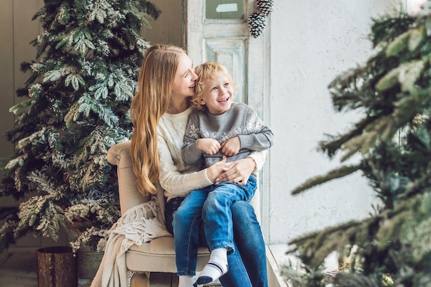
[{"label": "plain white wall between the door frame and the blurred fir tree", "polygon": [[[361,173],[302,193],[291,190],[340,165],[317,151],[324,134],[348,129],[358,114],[332,107],[328,84],[372,54],[372,17],[400,8],[395,0],[275,1],[270,18],[270,125],[276,142],[269,158],[268,244],[365,217],[375,201]],[[401,3],[401,2],[400,2]],[[268,112],[268,110],[266,110]]]}]

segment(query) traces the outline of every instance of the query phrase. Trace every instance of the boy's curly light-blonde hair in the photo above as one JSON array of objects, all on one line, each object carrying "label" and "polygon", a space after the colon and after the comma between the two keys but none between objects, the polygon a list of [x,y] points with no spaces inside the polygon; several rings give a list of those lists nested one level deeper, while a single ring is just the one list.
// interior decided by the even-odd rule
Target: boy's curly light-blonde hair
[{"label": "boy's curly light-blonde hair", "polygon": [[215,73],[223,73],[229,79],[232,87],[235,87],[233,83],[231,74],[224,65],[216,62],[206,62],[201,65],[196,66],[195,73],[198,75],[198,80],[196,80],[195,94],[191,99],[191,104],[196,109],[207,109],[206,105],[200,105],[200,100],[202,100],[202,95],[205,91],[205,82],[208,80],[213,80]]}]

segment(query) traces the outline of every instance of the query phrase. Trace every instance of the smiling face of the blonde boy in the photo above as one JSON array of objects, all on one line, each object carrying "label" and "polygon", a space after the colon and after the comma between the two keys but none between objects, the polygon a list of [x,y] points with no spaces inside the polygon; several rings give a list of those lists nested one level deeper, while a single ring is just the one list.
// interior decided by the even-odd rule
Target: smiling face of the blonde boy
[{"label": "smiling face of the blonde boy", "polygon": [[230,109],[232,103],[233,87],[229,78],[222,72],[216,72],[213,78],[205,81],[200,105],[206,105],[212,115],[218,116]]}]

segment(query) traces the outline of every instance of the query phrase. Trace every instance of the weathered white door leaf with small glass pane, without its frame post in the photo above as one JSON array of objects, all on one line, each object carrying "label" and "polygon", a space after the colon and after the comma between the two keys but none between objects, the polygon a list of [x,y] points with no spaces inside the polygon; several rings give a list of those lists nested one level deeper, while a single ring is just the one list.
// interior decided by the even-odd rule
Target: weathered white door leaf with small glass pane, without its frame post
[{"label": "weathered white door leaf with small glass pane, without its frame post", "polygon": [[187,51],[195,65],[217,61],[238,86],[235,101],[248,103],[249,30],[246,12],[251,1],[187,1]]}]

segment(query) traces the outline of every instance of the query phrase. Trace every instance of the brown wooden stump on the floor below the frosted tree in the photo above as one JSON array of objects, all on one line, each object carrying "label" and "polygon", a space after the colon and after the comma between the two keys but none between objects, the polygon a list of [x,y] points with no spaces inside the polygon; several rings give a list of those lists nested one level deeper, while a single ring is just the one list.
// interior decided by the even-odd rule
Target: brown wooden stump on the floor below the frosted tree
[{"label": "brown wooden stump on the floor below the frosted tree", "polygon": [[78,287],[76,257],[71,247],[40,248],[36,261],[39,287]]}]

